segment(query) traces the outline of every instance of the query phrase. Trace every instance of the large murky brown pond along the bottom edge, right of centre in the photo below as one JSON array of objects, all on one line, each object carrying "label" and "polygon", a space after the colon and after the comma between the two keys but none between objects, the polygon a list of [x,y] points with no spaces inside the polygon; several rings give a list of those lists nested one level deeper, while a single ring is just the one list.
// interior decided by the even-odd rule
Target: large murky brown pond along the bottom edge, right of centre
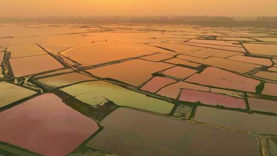
[{"label": "large murky brown pond along the bottom edge, right of centre", "polygon": [[252,136],[127,108],[116,109],[101,125],[86,146],[117,155],[259,155]]}]

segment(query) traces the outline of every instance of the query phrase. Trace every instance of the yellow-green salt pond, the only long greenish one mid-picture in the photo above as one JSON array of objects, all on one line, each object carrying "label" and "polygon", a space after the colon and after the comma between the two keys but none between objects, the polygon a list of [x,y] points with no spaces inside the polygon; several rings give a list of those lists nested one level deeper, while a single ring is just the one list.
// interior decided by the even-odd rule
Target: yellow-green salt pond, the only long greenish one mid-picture
[{"label": "yellow-green salt pond, the only long greenish one mid-picture", "polygon": [[104,104],[109,100],[119,106],[129,106],[163,114],[170,113],[174,106],[172,103],[104,81],[80,83],[61,90],[92,106]]}]

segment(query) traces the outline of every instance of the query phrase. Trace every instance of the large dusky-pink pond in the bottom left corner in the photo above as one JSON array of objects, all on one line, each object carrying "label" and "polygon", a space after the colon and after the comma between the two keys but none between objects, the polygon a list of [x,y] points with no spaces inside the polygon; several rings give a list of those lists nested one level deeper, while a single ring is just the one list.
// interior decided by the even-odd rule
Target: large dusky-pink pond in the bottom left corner
[{"label": "large dusky-pink pond in the bottom left corner", "polygon": [[0,118],[0,141],[51,156],[70,153],[98,129],[54,94],[3,111]]}]

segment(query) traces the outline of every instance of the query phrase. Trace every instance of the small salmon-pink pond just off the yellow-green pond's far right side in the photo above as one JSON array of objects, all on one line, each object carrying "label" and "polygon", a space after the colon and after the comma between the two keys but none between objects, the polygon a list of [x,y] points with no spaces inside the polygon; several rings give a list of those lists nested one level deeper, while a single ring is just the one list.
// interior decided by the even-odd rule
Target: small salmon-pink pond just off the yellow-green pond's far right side
[{"label": "small salmon-pink pond just off the yellow-green pond's far right side", "polygon": [[176,81],[165,77],[157,76],[151,79],[149,82],[147,82],[147,84],[145,84],[141,89],[154,93],[159,89],[163,88],[164,86],[172,84],[174,82]]}]

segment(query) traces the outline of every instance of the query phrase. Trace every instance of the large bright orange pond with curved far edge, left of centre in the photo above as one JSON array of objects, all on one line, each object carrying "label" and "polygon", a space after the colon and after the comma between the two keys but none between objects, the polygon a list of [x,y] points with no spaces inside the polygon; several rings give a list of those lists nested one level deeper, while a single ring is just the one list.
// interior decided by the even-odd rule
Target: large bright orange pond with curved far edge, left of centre
[{"label": "large bright orange pond with curved far edge, left of centre", "polygon": [[159,52],[159,48],[146,44],[116,45],[105,42],[76,46],[63,51],[61,54],[82,65],[89,66],[149,55],[154,52]]}]

